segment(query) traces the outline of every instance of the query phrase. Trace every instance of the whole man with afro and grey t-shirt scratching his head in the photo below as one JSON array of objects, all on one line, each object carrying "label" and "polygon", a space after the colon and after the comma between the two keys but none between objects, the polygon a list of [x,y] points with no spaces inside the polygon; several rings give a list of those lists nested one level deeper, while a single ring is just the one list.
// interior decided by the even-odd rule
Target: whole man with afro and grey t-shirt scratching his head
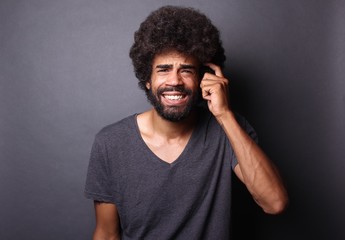
[{"label": "whole man with afro and grey t-shirt scratching his head", "polygon": [[94,239],[229,239],[232,170],[263,211],[282,212],[279,174],[230,107],[211,21],[162,7],[135,33],[130,57],[153,108],[96,135],[85,189]]}]

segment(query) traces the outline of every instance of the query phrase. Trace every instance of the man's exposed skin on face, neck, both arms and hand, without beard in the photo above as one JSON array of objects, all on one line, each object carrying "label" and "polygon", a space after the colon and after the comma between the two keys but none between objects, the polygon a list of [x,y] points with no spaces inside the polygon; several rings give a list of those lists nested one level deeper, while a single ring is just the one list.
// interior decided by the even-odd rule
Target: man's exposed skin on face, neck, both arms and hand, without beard
[{"label": "man's exposed skin on face, neck, both arms and hand, without beard", "polygon": [[[224,77],[221,68],[212,63],[206,65],[215,74],[199,76],[198,61],[175,51],[156,55],[152,64],[151,82],[146,87],[152,88],[153,93],[162,87],[175,86],[184,86],[195,94],[201,90],[209,110],[222,126],[235,151],[239,163],[234,168],[235,174],[264,212],[281,213],[288,204],[288,196],[276,167],[237,123],[229,103],[229,80]],[[167,110],[172,110],[174,106],[175,110],[181,111],[192,96],[169,91],[158,97]],[[172,163],[182,153],[193,132],[195,120],[196,115],[191,112],[184,120],[171,122],[162,118],[154,108],[137,118],[145,143],[167,163]],[[116,206],[96,203],[95,211],[97,224],[93,239],[120,239]]]}]

